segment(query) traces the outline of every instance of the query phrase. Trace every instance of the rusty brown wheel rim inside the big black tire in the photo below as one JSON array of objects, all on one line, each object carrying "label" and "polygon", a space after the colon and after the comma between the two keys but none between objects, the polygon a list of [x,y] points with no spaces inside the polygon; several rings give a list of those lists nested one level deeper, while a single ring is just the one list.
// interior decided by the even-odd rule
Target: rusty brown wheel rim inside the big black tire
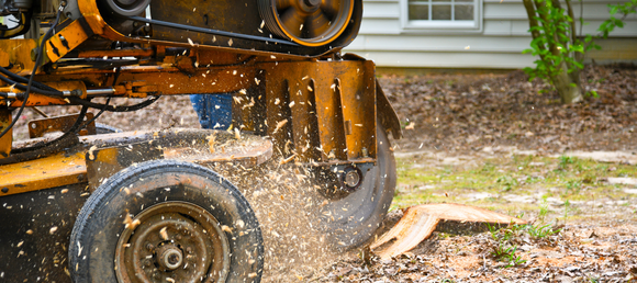
[{"label": "rusty brown wheel rim inside the big black tire", "polygon": [[186,202],[144,210],[115,250],[119,282],[225,282],[228,269],[228,241],[219,220]]}]

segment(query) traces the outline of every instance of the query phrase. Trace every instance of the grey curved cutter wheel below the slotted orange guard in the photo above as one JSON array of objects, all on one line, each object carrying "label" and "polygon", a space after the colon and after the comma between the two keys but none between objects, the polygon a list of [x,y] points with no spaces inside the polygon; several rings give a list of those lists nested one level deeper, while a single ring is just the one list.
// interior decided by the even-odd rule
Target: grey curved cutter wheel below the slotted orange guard
[{"label": "grey curved cutter wheel below the slotted orange guard", "polygon": [[393,200],[395,159],[387,132],[377,121],[377,165],[365,174],[355,192],[329,201],[322,208],[322,223],[338,249],[365,244],[382,223]]}]

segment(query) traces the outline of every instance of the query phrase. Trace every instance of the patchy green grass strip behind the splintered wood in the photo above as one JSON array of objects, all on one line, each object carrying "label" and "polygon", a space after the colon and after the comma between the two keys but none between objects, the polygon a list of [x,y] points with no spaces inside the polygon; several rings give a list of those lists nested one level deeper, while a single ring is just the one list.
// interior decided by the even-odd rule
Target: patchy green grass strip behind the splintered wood
[{"label": "patchy green grass strip behind the splintered wood", "polygon": [[[585,202],[600,199],[626,199],[622,185],[601,181],[608,177],[636,177],[637,167],[602,163],[574,157],[512,156],[483,159],[473,166],[433,166],[421,157],[398,159],[398,183],[392,208],[424,203],[457,202],[487,206],[498,211],[519,213],[549,212],[547,197],[565,202]],[[491,197],[470,200],[468,194],[487,193]],[[512,203],[503,196],[522,195],[544,201],[534,204]],[[570,217],[577,210],[568,207]]]}]

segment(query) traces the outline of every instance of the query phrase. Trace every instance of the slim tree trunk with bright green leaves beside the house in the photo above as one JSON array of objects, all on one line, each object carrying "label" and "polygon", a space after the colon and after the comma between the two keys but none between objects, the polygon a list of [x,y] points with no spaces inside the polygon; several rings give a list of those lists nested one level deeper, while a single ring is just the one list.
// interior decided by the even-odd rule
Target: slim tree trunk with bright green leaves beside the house
[{"label": "slim tree trunk with bright green leaves beside the house", "polygon": [[[530,80],[548,80],[556,88],[562,102],[572,103],[582,100],[580,70],[583,69],[584,53],[601,47],[596,38],[607,38],[616,27],[624,27],[624,20],[637,12],[637,0],[623,4],[608,4],[610,19],[604,21],[597,31],[599,35],[585,35],[583,38],[575,32],[573,8],[570,0],[565,0],[566,9],[559,0],[523,0],[533,36],[530,48],[523,50],[538,56],[535,68],[527,67],[525,72]],[[583,7],[580,0],[580,8]],[[582,10],[580,10],[580,14]],[[615,16],[621,14],[622,16]],[[584,24],[580,16],[581,26]]]}]

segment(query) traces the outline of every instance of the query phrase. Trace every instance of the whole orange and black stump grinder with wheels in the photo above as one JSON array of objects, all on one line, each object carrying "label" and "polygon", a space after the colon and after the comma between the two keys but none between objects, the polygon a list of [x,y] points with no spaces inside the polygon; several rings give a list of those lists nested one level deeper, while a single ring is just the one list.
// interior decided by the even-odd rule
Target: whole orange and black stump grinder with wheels
[{"label": "whole orange and black stump grinder with wheels", "polygon": [[[0,16],[1,282],[259,282],[255,212],[210,165],[315,172],[343,248],[385,215],[400,123],[373,63],[340,54],[361,0],[0,0]],[[96,123],[217,93],[236,132]],[[26,107],[69,105],[13,140]]]}]

